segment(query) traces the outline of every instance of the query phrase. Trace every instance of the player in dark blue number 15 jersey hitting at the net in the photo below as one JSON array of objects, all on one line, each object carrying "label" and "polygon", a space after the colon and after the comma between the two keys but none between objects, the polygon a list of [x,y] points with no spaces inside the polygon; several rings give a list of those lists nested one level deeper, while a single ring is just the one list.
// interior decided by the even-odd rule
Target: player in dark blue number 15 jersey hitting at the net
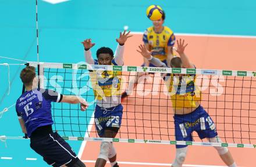
[{"label": "player in dark blue number 15 jersey hitting at the net", "polygon": [[51,102],[80,103],[81,111],[88,107],[86,100],[77,96],[65,96],[53,90],[37,88],[35,68],[28,66],[20,72],[26,92],[17,99],[16,112],[20,126],[28,137],[30,147],[52,166],[84,167],[69,144],[57,132],[52,131]]}]

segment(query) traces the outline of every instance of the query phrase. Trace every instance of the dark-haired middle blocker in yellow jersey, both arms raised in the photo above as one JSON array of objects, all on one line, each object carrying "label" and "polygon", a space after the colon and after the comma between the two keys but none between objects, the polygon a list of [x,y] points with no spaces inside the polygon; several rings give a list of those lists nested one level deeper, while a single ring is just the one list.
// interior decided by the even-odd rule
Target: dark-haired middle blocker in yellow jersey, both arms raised
[{"label": "dark-haired middle blocker in yellow jersey, both arms raised", "polygon": [[[97,60],[91,56],[91,50],[95,43],[91,39],[86,39],[82,43],[84,45],[84,57],[88,64],[123,66],[123,52],[126,40],[131,37],[130,31],[126,33],[120,32],[120,36],[116,39],[118,48],[115,56],[110,48],[102,47],[97,50]],[[102,67],[104,68],[104,67]],[[121,104],[120,92],[120,75],[119,71],[91,71],[90,77],[94,89],[97,105],[95,106],[94,119],[99,137],[115,138],[119,131],[123,106]],[[103,167],[106,161],[111,162],[111,166],[118,167],[116,162],[116,150],[112,142],[102,141],[100,152],[95,163],[96,167]]]}]

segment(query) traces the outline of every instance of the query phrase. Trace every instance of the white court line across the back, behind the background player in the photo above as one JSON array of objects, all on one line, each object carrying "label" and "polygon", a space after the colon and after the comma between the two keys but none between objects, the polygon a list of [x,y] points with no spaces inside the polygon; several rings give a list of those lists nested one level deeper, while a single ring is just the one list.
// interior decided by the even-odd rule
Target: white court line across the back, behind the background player
[{"label": "white court line across the back, behind the background player", "polygon": [[[130,32],[131,34],[143,34],[144,32]],[[254,35],[221,35],[221,34],[186,34],[186,33],[175,33],[178,36],[190,36],[190,37],[226,37],[226,38],[253,38],[256,39]]]}]

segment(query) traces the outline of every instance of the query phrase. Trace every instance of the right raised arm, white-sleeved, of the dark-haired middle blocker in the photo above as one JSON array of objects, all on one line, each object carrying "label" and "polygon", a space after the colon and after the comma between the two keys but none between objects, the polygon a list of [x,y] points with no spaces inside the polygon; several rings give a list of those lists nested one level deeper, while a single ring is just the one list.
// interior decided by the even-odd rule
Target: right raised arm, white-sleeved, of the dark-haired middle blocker
[{"label": "right raised arm, white-sleeved, of the dark-haired middle blocker", "polygon": [[128,38],[132,37],[133,35],[129,35],[130,31],[126,33],[126,31],[120,32],[119,38],[116,38],[116,42],[118,42],[118,47],[116,48],[115,52],[115,62],[119,66],[123,66],[123,52],[125,49],[125,42]]}]

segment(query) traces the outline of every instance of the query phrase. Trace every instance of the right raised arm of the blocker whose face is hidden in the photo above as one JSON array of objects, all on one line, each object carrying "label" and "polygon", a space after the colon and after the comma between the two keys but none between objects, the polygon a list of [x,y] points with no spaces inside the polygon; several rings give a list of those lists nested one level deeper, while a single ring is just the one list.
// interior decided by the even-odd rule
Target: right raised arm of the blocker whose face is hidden
[{"label": "right raised arm of the blocker whose face is hidden", "polygon": [[184,53],[184,50],[188,45],[188,43],[184,44],[184,42],[184,39],[177,40],[176,52],[179,53],[184,68],[195,68],[195,66],[190,62],[189,57]]}]

